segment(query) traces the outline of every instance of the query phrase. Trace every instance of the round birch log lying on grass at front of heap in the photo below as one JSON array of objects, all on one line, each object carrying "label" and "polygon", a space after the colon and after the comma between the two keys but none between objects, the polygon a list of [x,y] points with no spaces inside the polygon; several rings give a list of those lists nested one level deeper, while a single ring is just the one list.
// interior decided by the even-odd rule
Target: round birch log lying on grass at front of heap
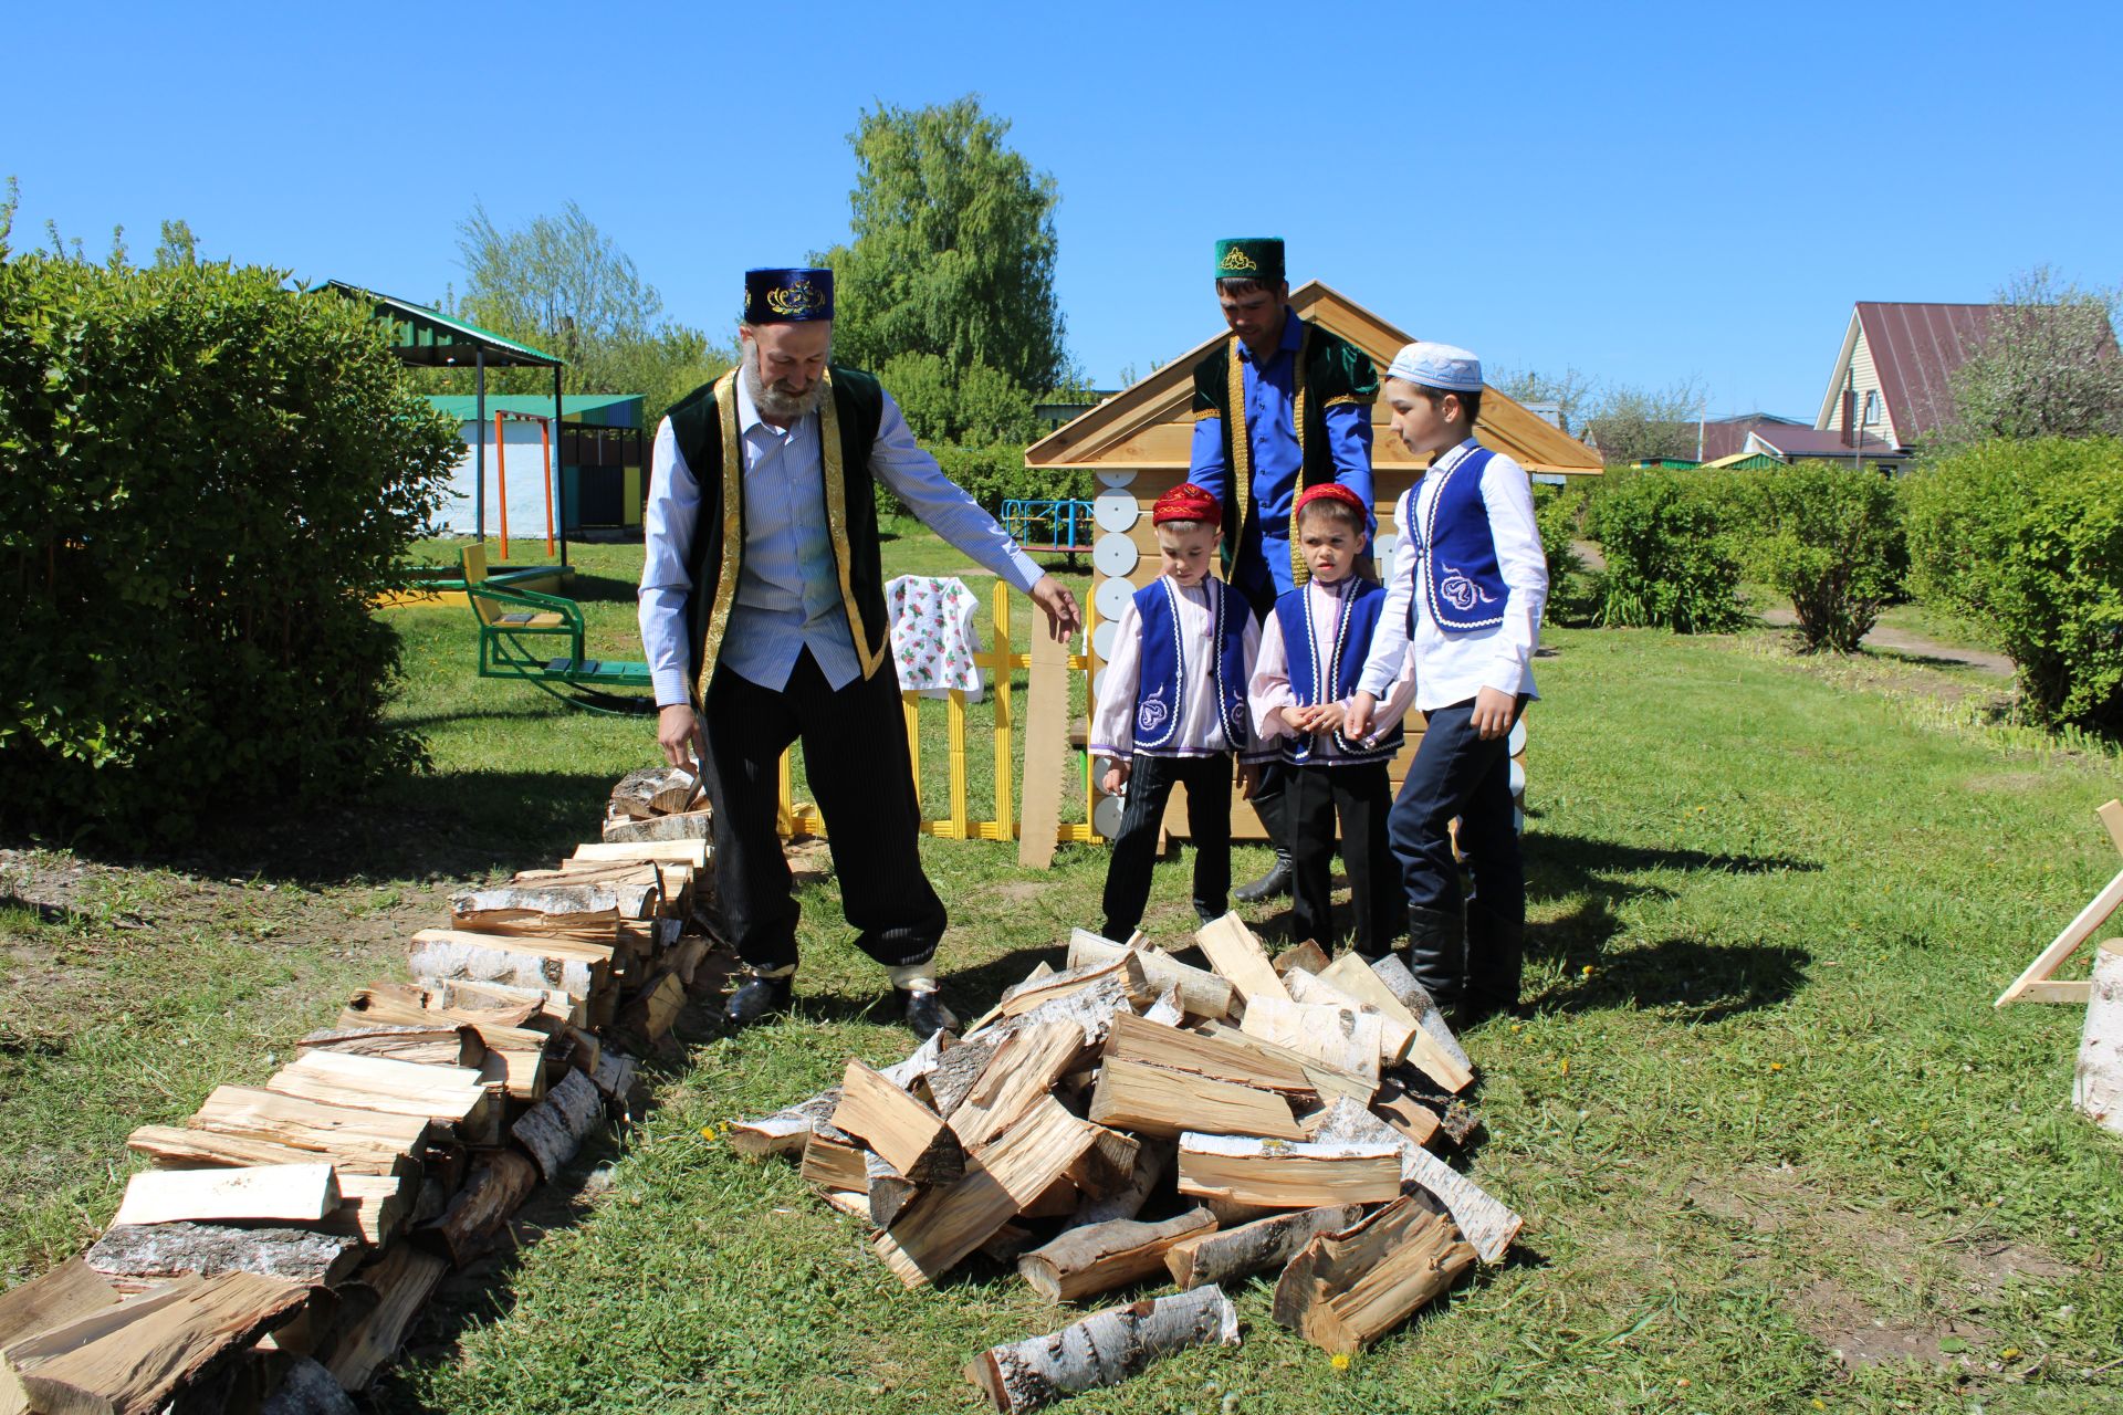
[{"label": "round birch log lying on grass at front of heap", "polygon": [[1238,1309],[1223,1288],[1108,1307],[1049,1337],[991,1347],[966,1362],[966,1379],[1017,1415],[1119,1385],[1159,1356],[1202,1345],[1238,1345]]}]

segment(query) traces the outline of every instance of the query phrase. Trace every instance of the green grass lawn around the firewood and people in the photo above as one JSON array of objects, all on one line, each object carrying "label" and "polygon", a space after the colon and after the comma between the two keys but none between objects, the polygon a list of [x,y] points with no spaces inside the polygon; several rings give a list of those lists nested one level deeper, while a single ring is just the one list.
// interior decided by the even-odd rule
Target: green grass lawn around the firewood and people
[{"label": "green grass lawn around the firewood and people", "polygon": [[[887,552],[894,573],[949,569],[921,535]],[[639,554],[575,552],[592,653],[637,656]],[[200,859],[0,861],[32,880],[15,893],[57,902],[0,910],[11,1275],[93,1237],[125,1131],[270,1071],[452,883],[565,853],[648,757],[641,719],[473,679],[463,609],[391,622],[431,774]],[[1467,1037],[1488,1122],[1471,1171],[1526,1216],[1518,1254],[1340,1370],[1248,1283],[1244,1347],[1068,1409],[2117,1409],[2123,1143],[2068,1107],[2074,1010],[1989,1006],[2115,872],[2093,806],[2123,789],[2117,757],[1943,711],[1972,675],[1800,660],[1773,632],[1550,643],[1529,751],[1537,1016]],[[930,704],[930,762],[940,719]],[[1095,849],[1064,846],[1049,874],[1002,844],[921,849],[964,1014],[1095,925]],[[1242,876],[1265,861],[1238,855]],[[1189,919],[1183,874],[1159,872],[1163,942]],[[798,1014],[741,1037],[681,1023],[654,1110],[597,1156],[609,1171],[452,1290],[382,1409],[972,1409],[970,1353],[1072,1320],[991,1271],[907,1294],[792,1169],[703,1135],[909,1046],[870,1008],[879,976],[830,880],[802,904]]]}]

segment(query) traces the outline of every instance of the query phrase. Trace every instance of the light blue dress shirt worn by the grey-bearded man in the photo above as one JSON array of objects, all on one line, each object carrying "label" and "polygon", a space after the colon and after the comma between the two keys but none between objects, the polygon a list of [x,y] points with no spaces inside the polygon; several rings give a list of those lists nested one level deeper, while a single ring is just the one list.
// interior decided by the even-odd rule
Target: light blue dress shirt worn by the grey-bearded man
[{"label": "light blue dress shirt worn by the grey-bearded man", "polygon": [[[830,395],[828,395],[830,397]],[[809,414],[777,429],[760,418],[743,375],[737,380],[737,443],[745,458],[745,556],[722,634],[722,664],[779,692],[796,658],[811,649],[819,672],[847,687],[860,672],[856,641],[841,602],[841,571],[826,528],[826,465],[819,418]],[[1038,583],[1038,564],[1004,535],[981,505],[960,490],[936,458],[915,446],[900,405],[885,395],[870,473],[907,509],[1019,590]],[[648,556],[641,562],[641,645],[650,660],[658,706],[690,700],[692,643],[686,594],[692,590],[692,537],[701,516],[701,484],[677,450],[671,420],[656,424],[650,454],[650,503],[641,518]],[[883,632],[885,626],[870,626]]]}]

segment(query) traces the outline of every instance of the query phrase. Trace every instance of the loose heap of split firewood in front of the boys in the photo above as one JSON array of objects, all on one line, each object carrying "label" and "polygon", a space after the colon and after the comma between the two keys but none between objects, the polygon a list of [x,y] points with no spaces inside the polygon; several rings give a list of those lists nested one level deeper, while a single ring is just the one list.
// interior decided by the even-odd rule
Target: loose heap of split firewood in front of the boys
[{"label": "loose heap of split firewood in front of the boys", "polygon": [[1467,1054],[1399,959],[1299,944],[1270,961],[1236,914],[1208,967],[1076,931],[1068,967],[1008,989],[962,1037],[730,1126],[788,1156],[909,1288],[974,1256],[1057,1303],[1110,1307],[983,1351],[998,1411],[1112,1385],[1187,1345],[1236,1345],[1223,1283],[1280,1271],[1274,1320],[1348,1353],[1405,1322],[1520,1218],[1435,1150],[1465,1146]]}]

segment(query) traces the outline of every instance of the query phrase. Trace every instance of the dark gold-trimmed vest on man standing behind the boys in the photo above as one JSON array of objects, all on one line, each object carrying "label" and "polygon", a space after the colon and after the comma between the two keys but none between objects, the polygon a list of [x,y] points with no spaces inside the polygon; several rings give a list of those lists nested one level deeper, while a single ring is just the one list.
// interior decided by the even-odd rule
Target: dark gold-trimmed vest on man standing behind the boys
[{"label": "dark gold-trimmed vest on man standing behind the boys", "polygon": [[[1359,403],[1369,407],[1378,399],[1378,367],[1371,356],[1344,339],[1321,329],[1312,320],[1299,320],[1304,335],[1297,342],[1297,380],[1291,401],[1295,414],[1297,450],[1304,460],[1297,469],[1297,492],[1323,482],[1333,482],[1333,450],[1327,446],[1327,409],[1335,403]],[[1223,499],[1223,569],[1231,573],[1240,537],[1253,507],[1253,443],[1246,429],[1246,369],[1238,359],[1238,335],[1231,335],[1195,365],[1193,418],[1219,418],[1223,422],[1223,465],[1229,494]],[[1233,412],[1236,409],[1236,412]],[[1297,492],[1291,505],[1297,505]],[[1293,583],[1312,579],[1297,547],[1297,518],[1291,516],[1291,573]]]}]

